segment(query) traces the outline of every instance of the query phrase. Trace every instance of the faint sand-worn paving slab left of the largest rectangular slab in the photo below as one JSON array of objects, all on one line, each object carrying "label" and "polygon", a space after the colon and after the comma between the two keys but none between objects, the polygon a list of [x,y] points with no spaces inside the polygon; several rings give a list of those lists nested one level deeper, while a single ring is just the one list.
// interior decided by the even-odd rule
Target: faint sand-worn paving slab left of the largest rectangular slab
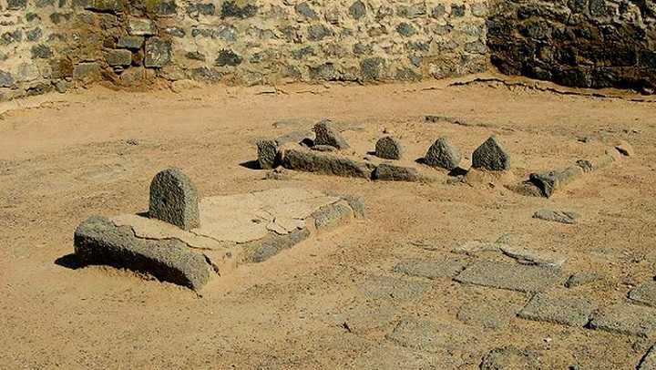
[{"label": "faint sand-worn paving slab left of the largest rectangular slab", "polygon": [[360,285],[360,290],[368,298],[396,299],[401,301],[416,299],[429,288],[428,283],[420,283],[393,276],[372,276]]}]

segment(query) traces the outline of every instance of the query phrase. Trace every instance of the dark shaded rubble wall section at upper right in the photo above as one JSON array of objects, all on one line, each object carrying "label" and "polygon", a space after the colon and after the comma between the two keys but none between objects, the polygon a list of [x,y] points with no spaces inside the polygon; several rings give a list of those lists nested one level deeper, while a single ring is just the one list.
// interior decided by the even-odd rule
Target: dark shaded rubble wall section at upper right
[{"label": "dark shaded rubble wall section at upper right", "polygon": [[487,34],[491,62],[504,74],[572,87],[656,87],[653,0],[497,0]]}]

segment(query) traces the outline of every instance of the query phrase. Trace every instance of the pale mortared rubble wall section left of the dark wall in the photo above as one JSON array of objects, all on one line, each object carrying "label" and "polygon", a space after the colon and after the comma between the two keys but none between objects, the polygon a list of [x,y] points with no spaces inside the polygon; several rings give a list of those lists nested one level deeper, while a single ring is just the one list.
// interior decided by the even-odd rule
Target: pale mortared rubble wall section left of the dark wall
[{"label": "pale mortared rubble wall section left of the dark wall", "polygon": [[0,99],[98,80],[419,80],[489,61],[485,0],[0,0],[0,15]]}]

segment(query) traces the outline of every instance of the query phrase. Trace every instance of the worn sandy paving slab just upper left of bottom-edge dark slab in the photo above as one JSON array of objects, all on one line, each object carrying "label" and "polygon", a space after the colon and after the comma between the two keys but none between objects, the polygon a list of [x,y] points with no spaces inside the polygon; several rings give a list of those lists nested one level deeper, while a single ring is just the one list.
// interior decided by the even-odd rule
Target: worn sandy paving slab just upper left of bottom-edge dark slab
[{"label": "worn sandy paving slab just upper left of bottom-edge dark slab", "polygon": [[436,323],[405,317],[386,338],[395,344],[419,351],[440,353],[462,350],[477,342],[478,331],[463,324]]}]

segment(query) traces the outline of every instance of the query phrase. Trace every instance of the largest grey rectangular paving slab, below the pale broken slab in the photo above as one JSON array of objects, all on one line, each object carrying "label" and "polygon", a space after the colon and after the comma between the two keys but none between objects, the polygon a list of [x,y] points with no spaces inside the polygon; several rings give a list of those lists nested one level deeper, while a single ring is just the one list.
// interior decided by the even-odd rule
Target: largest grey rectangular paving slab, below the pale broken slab
[{"label": "largest grey rectangular paving slab, below the pale broken slab", "polygon": [[552,269],[515,263],[479,261],[456,276],[456,282],[472,283],[518,292],[542,292],[558,283]]}]

